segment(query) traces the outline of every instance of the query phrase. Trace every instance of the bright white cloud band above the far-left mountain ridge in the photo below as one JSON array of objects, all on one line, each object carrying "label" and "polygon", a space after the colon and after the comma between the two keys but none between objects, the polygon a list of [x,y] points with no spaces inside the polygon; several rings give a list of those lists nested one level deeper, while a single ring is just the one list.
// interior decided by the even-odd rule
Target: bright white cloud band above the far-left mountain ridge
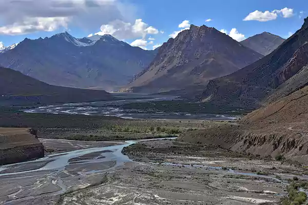
[{"label": "bright white cloud band above the far-left mountain ridge", "polygon": [[36,31],[54,31],[61,27],[67,28],[68,17],[28,17],[23,22],[0,27],[0,34],[20,35]]}]

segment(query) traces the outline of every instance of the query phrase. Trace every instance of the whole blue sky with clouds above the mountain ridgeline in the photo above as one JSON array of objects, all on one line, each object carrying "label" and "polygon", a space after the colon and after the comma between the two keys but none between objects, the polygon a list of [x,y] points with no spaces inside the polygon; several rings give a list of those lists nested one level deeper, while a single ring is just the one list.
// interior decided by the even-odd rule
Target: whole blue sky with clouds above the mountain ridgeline
[{"label": "whole blue sky with clouds above the mountain ridgeline", "polygon": [[0,0],[0,48],[67,31],[78,38],[111,34],[151,50],[190,24],[238,41],[264,31],[288,38],[308,16],[306,1]]}]

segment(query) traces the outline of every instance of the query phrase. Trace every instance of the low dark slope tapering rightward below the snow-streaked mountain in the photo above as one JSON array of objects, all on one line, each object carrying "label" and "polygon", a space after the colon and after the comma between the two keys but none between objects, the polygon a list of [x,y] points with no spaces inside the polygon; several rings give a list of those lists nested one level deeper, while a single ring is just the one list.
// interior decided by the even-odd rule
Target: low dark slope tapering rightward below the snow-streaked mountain
[{"label": "low dark slope tapering rightward below the snow-streaked mountain", "polygon": [[5,101],[26,103],[31,101],[41,104],[77,103],[110,98],[110,94],[103,90],[51,86],[21,72],[0,67],[0,104]]}]

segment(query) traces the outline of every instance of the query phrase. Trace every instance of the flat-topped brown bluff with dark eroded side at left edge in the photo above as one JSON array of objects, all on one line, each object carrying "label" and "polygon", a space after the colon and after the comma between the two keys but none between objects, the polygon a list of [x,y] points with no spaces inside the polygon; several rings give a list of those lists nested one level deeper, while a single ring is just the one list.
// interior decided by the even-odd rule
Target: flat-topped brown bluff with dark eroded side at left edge
[{"label": "flat-topped brown bluff with dark eroded side at left edge", "polygon": [[0,165],[44,157],[44,146],[25,128],[0,128]]}]

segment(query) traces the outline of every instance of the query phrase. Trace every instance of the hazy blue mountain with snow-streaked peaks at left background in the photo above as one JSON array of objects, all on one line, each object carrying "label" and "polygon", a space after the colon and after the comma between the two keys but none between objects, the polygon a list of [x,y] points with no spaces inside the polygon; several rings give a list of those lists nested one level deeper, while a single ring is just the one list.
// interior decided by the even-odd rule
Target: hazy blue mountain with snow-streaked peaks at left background
[{"label": "hazy blue mountain with snow-streaked peaks at left background", "polygon": [[65,32],[26,38],[1,53],[0,64],[51,85],[112,91],[129,83],[155,55],[111,35],[75,38]]}]

